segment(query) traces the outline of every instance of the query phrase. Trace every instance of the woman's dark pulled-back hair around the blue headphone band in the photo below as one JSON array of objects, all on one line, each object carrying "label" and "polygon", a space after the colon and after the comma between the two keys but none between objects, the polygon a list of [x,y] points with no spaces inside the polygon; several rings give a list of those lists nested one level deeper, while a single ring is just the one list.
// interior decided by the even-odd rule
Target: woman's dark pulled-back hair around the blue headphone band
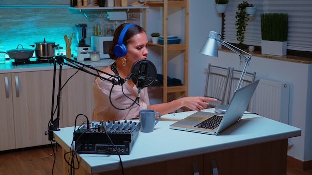
[{"label": "woman's dark pulled-back hair around the blue headphone band", "polygon": [[[121,33],[121,31],[123,30],[123,28],[128,25],[129,23],[123,23],[121,25],[119,25],[115,32],[114,32],[114,38],[113,38],[113,41],[112,41],[112,45],[110,46],[109,50],[108,50],[108,55],[111,57],[111,59],[113,60],[116,60],[117,59],[117,56],[115,55],[114,53],[114,47],[118,44],[118,39],[119,39],[119,35]],[[136,34],[139,34],[139,33],[143,33],[145,32],[144,28],[142,28],[141,26],[139,25],[133,25],[133,26],[130,26],[127,30],[127,32],[125,33],[125,36],[124,36],[124,40],[123,40],[123,44],[124,45],[128,45],[128,43],[130,42],[132,36],[136,35]]]}]

